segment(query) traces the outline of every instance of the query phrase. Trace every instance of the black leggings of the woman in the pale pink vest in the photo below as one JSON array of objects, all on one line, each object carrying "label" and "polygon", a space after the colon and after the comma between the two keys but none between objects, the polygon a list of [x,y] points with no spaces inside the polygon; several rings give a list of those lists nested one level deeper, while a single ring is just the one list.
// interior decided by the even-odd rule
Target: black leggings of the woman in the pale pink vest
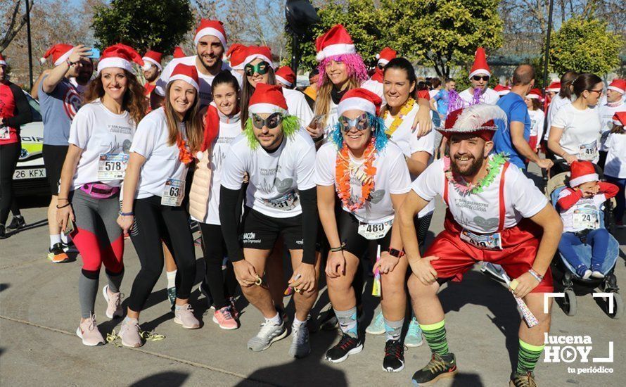
[{"label": "black leggings of the woman in the pale pink vest", "polygon": [[211,292],[213,305],[219,310],[228,305],[228,298],[233,296],[237,288],[237,279],[230,260],[226,270],[222,270],[222,262],[226,256],[226,243],[222,227],[217,224],[198,222],[202,232],[202,249],[206,267],[206,281]]}]

